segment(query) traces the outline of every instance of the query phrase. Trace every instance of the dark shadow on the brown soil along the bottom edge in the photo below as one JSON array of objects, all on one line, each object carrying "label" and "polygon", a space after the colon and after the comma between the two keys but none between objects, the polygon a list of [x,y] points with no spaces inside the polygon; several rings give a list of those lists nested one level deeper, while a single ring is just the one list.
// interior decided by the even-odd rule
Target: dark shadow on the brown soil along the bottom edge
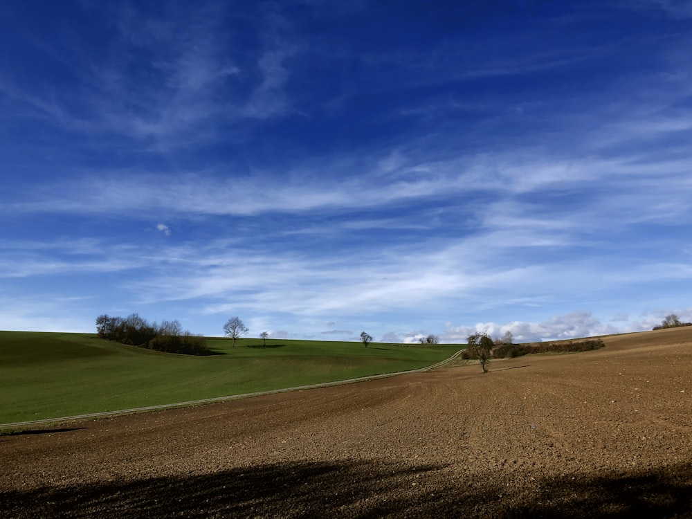
[{"label": "dark shadow on the brown soil along the bottom edge", "polygon": [[272,464],[188,477],[0,493],[0,517],[690,518],[692,466],[530,481],[445,466]]}]

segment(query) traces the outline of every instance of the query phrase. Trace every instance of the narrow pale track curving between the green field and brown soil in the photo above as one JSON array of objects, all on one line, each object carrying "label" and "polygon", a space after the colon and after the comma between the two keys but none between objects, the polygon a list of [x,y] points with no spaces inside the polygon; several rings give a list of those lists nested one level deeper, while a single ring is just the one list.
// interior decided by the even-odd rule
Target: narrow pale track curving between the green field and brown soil
[{"label": "narrow pale track curving between the green field and brown soil", "polygon": [[253,392],[253,393],[232,394],[232,395],[228,395],[227,397],[212,397],[210,399],[191,400],[188,402],[162,403],[162,404],[159,404],[158,406],[146,406],[143,408],[121,409],[121,410],[116,410],[116,411],[90,412],[90,413],[87,413],[86,415],[75,415],[75,416],[71,416],[71,417],[57,417],[57,418],[44,418],[41,420],[17,421],[13,424],[0,424],[0,430],[1,429],[10,429],[10,428],[30,427],[30,426],[37,426],[37,425],[42,425],[42,424],[56,424],[56,423],[62,423],[62,422],[66,422],[66,421],[86,420],[86,419],[92,419],[92,418],[114,417],[114,416],[118,416],[118,415],[134,415],[135,413],[138,413],[138,412],[158,411],[158,410],[176,409],[176,408],[187,408],[187,407],[192,407],[192,406],[203,406],[204,404],[207,404],[207,403],[226,402],[226,401],[233,401],[233,400],[240,400],[240,399],[248,399],[248,398],[253,398],[253,397],[262,397],[263,395],[266,395],[266,394],[277,394],[277,393],[287,393],[287,392],[291,392],[291,391],[304,391],[304,390],[312,390],[312,389],[319,389],[319,388],[329,388],[329,387],[334,386],[334,385],[345,385],[345,384],[353,384],[353,383],[365,382],[365,381],[375,380],[375,379],[386,379],[390,376],[397,376],[397,375],[403,375],[403,374],[409,374],[409,373],[421,373],[421,372],[426,372],[426,371],[430,371],[430,370],[435,370],[438,367],[442,367],[445,364],[450,363],[455,358],[457,358],[459,355],[461,355],[462,352],[464,352],[464,349],[459,349],[458,352],[456,352],[455,354],[453,354],[449,358],[444,359],[444,361],[440,361],[438,363],[435,363],[435,364],[432,364],[432,365],[426,366],[426,367],[419,367],[417,370],[400,371],[400,372],[394,372],[394,373],[384,373],[384,374],[379,374],[379,375],[359,376],[356,379],[346,379],[346,380],[341,380],[341,381],[322,382],[322,383],[318,383],[318,384],[299,385],[299,386],[296,386],[295,388],[283,388],[283,389],[277,389],[277,390],[257,391],[257,392]]}]

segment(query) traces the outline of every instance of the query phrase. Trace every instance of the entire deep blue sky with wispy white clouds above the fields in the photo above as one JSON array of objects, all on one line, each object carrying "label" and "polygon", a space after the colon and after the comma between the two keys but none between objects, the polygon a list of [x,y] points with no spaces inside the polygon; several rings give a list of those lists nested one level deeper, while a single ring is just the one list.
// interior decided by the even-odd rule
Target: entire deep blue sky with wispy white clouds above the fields
[{"label": "entire deep blue sky with wispy white clouds above the fields", "polygon": [[692,2],[5,2],[0,329],[692,320]]}]

